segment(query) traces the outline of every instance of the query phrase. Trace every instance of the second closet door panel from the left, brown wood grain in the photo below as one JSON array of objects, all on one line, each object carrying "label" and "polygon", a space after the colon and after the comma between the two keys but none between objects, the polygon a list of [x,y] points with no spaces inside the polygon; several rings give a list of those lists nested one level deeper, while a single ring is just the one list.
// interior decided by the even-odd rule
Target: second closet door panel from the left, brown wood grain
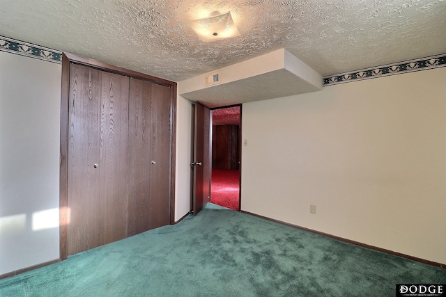
[{"label": "second closet door panel from the left, brown wood grain", "polygon": [[100,244],[127,235],[129,79],[101,72]]}]

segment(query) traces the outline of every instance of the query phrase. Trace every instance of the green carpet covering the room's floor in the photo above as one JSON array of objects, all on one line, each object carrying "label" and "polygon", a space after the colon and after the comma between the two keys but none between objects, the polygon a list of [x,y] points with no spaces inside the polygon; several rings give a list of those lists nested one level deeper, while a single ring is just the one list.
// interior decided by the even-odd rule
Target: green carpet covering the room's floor
[{"label": "green carpet covering the room's floor", "polygon": [[395,296],[427,266],[207,204],[197,216],[0,280],[0,296]]}]

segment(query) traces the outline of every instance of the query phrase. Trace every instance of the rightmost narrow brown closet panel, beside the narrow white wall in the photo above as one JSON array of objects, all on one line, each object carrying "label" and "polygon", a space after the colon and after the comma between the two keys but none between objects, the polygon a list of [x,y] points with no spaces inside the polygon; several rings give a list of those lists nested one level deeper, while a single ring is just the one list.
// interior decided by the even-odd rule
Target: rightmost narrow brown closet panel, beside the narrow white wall
[{"label": "rightmost narrow brown closet panel, beside the narrow white wall", "polygon": [[171,88],[153,84],[151,90],[151,178],[149,225],[170,223]]}]

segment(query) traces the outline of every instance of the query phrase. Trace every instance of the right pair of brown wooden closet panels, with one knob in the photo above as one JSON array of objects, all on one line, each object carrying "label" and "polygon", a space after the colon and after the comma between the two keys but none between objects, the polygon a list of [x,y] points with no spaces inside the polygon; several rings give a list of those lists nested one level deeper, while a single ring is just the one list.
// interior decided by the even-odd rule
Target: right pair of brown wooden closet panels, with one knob
[{"label": "right pair of brown wooden closet panels, with one knob", "polygon": [[130,79],[128,236],[170,223],[171,88]]}]

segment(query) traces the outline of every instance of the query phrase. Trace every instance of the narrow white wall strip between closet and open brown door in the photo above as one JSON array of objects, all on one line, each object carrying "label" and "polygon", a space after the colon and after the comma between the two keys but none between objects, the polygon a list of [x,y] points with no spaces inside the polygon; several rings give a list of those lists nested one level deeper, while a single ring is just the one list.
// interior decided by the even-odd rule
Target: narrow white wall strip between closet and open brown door
[{"label": "narrow white wall strip between closet and open brown door", "polygon": [[181,96],[176,106],[175,221],[190,211],[192,102]]}]

